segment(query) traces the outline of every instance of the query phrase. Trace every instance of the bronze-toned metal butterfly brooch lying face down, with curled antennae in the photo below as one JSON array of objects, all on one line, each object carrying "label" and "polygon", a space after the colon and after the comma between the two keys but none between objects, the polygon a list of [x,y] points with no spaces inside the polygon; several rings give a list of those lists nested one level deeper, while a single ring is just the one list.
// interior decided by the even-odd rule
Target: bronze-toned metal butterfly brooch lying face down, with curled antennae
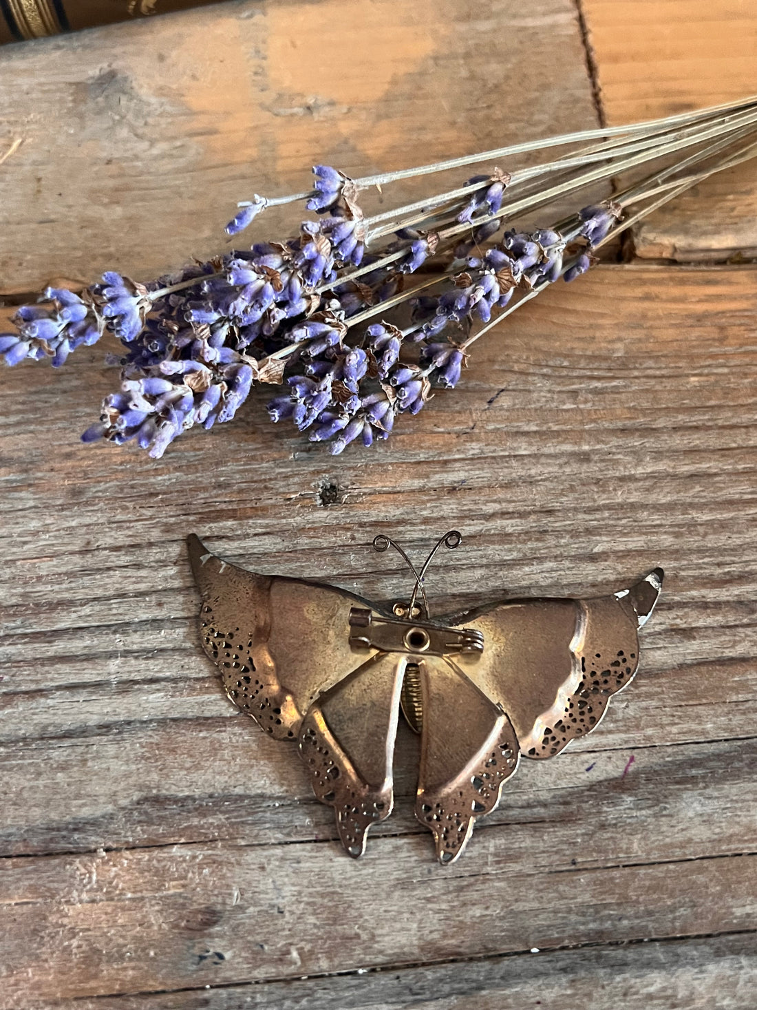
[{"label": "bronze-toned metal butterfly brooch lying face down, with curled antennae", "polygon": [[192,534],[203,597],[203,647],[229,699],[277,739],[296,742],[317,798],[334,808],[350,855],[392,812],[402,711],[421,735],[415,812],[442,864],[525,758],[553,758],[600,722],[632,679],[638,629],[662,587],[654,569],[630,589],[587,600],[520,599],[431,618],[424,579],[379,606],[319,582],[256,575],[221,561]]}]

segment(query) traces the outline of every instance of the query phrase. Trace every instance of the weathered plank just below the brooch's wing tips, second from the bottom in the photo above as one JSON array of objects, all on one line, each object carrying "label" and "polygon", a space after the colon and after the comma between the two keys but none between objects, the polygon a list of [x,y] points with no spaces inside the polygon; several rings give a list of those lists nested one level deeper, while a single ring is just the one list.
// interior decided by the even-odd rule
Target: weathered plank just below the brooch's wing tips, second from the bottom
[{"label": "weathered plank just below the brooch's wing tips, second from the bottom", "polygon": [[[559,849],[558,827],[535,833]],[[753,855],[524,874],[489,830],[450,872],[410,841],[382,838],[365,862],[319,843],[48,856],[33,874],[8,860],[4,994],[16,1006],[754,927]]]}]

